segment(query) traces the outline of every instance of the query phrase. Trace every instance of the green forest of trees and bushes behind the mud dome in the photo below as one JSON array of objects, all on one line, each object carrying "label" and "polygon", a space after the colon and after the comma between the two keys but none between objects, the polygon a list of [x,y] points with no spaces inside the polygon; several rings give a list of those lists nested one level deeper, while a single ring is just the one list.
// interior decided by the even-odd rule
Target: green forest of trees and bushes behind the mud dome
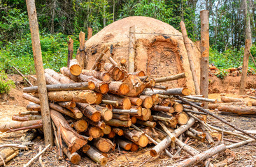
[{"label": "green forest of trees and bushes behind the mud dome", "polygon": [[[239,67],[243,63],[246,17],[241,0],[36,0],[43,65],[59,71],[66,66],[67,42],[87,27],[97,33],[104,26],[129,16],[159,19],[180,30],[185,22],[189,38],[200,40],[200,10],[209,10],[210,63],[220,69]],[[247,1],[256,59],[255,0]],[[25,0],[0,0],[0,71],[13,73],[12,66],[24,74],[35,74],[29,19]],[[256,68],[249,59],[249,69]]]}]

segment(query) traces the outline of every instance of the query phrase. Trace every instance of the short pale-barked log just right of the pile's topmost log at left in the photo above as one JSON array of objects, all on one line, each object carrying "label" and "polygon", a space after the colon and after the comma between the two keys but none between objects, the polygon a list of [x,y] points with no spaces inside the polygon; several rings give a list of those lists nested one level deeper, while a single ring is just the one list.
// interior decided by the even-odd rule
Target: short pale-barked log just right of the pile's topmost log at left
[{"label": "short pale-barked log just right of the pile's topmost log at left", "polygon": [[87,76],[91,75],[94,78],[104,81],[106,83],[111,82],[111,75],[108,74],[108,72],[101,72],[101,71],[95,71],[95,70],[82,70],[82,74],[85,74]]}]

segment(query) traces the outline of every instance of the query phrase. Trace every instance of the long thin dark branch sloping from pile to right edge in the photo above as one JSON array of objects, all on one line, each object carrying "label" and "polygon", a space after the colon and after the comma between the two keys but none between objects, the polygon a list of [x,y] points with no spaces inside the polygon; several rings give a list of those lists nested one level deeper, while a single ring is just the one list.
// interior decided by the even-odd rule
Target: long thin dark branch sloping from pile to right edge
[{"label": "long thin dark branch sloping from pile to right edge", "polygon": [[201,106],[197,106],[196,104],[193,104],[192,102],[188,101],[188,100],[185,100],[179,96],[174,96],[176,97],[178,100],[181,100],[187,104],[190,104],[190,106],[194,106],[195,108],[199,109],[200,111],[203,111],[204,113],[208,113],[208,115],[214,117],[214,118],[217,118],[218,120],[220,120],[221,122],[225,123],[226,125],[229,125],[230,127],[233,127],[234,129],[242,132],[243,134],[246,134],[247,136],[250,136],[250,138],[254,138],[256,140],[256,137],[249,134],[248,132],[244,131],[243,129],[240,129],[239,127],[236,127],[235,125],[232,125],[231,123],[227,122],[227,120],[224,120],[222,118],[220,118],[220,116],[216,116],[214,113],[211,113],[210,111],[202,108]]}]

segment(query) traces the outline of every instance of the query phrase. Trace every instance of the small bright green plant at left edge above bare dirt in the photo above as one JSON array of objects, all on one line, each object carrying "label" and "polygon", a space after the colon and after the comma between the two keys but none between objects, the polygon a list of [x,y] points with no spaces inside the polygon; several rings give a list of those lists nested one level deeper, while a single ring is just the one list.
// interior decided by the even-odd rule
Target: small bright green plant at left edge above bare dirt
[{"label": "small bright green plant at left edge above bare dirt", "polygon": [[7,79],[5,72],[0,71],[0,94],[9,93],[10,88],[14,88],[15,84],[12,80]]}]

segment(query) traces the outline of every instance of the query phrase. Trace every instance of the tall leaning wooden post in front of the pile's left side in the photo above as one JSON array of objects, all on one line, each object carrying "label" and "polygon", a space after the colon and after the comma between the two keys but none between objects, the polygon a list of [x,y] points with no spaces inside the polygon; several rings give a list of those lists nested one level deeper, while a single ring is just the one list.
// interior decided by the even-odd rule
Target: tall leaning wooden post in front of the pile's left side
[{"label": "tall leaning wooden post in front of the pile's left side", "polygon": [[39,29],[36,15],[36,5],[34,0],[26,0],[27,13],[29,15],[29,26],[31,31],[32,49],[34,63],[36,68],[36,77],[38,84],[38,95],[41,105],[41,115],[43,118],[43,134],[45,145],[53,145],[52,124],[50,120],[50,109],[48,104],[48,95],[45,83],[45,72],[43,70],[43,58],[39,38]]}]

